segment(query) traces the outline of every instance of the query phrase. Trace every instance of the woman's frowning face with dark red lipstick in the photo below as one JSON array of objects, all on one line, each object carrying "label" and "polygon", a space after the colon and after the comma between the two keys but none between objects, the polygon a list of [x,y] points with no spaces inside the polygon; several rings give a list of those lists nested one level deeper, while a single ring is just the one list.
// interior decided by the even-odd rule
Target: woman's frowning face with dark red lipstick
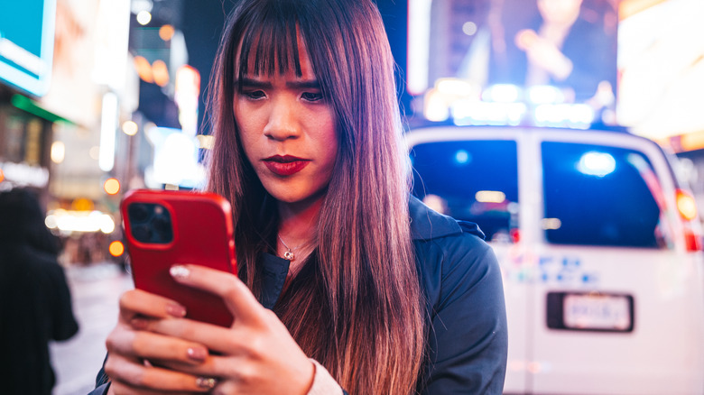
[{"label": "woman's frowning face with dark red lipstick", "polygon": [[300,37],[298,47],[301,77],[293,70],[246,75],[233,105],[247,159],[264,188],[286,203],[322,198],[338,154],[331,103],[320,93]]}]

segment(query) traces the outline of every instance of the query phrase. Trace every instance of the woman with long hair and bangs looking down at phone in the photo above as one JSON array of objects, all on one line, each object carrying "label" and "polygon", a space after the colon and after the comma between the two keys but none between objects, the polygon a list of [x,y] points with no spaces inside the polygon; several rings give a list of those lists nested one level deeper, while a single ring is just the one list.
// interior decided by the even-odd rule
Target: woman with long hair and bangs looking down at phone
[{"label": "woman with long hair and bangs looking down at phone", "polygon": [[213,75],[208,189],[232,203],[242,281],[198,262],[171,274],[235,322],[125,293],[109,393],[500,393],[496,259],[476,226],[409,198],[372,1],[244,1]]}]

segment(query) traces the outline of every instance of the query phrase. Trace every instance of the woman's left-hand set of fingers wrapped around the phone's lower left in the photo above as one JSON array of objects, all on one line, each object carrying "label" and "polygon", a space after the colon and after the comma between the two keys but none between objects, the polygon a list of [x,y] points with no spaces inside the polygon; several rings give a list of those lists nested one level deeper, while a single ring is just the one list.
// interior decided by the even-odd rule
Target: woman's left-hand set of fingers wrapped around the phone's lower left
[{"label": "woman's left-hand set of fingers wrapped around the phone's lower left", "polygon": [[162,363],[190,367],[208,363],[207,347],[139,330],[145,320],[170,321],[185,314],[186,309],[178,303],[143,290],[133,289],[123,294],[117,326],[106,342],[105,370],[112,381],[108,393],[193,393],[206,392],[215,386],[212,378],[159,367]]}]

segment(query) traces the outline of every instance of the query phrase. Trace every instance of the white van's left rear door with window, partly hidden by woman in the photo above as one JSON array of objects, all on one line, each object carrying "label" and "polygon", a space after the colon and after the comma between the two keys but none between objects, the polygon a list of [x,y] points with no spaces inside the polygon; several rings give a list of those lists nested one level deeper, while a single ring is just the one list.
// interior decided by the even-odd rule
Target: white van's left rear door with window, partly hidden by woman
[{"label": "white van's left rear door with window, partly hidden by woman", "polygon": [[413,194],[440,213],[478,223],[494,248],[505,278],[509,342],[505,390],[525,393],[524,362],[529,349],[525,328],[533,314],[525,298],[529,284],[522,280],[522,257],[515,253],[522,243],[518,234],[518,144],[514,140],[518,135],[472,131],[471,138],[477,140],[468,140],[468,131],[457,132],[413,133]]}]

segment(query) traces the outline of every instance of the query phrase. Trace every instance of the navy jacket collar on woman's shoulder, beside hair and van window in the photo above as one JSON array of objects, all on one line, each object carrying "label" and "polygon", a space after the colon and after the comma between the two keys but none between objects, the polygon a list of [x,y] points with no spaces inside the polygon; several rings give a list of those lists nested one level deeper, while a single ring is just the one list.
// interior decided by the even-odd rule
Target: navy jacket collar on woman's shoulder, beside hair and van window
[{"label": "navy jacket collar on woman's shoulder, beside hair and van window", "polygon": [[453,234],[469,233],[484,239],[484,233],[472,222],[458,221],[442,215],[425,206],[418,198],[411,197],[408,202],[411,216],[411,237],[416,240],[431,240]]}]

